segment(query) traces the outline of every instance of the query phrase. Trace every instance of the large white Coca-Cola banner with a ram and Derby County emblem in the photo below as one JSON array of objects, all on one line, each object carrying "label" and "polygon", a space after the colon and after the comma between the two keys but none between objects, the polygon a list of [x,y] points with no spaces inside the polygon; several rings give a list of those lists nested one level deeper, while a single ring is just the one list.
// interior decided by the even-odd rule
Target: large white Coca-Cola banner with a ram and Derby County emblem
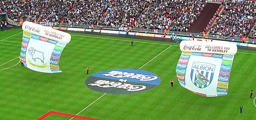
[{"label": "large white Coca-Cola banner with a ram and Derby County emblem", "polygon": [[59,59],[71,35],[39,24],[24,22],[20,58],[29,69],[45,73],[62,72]]}]

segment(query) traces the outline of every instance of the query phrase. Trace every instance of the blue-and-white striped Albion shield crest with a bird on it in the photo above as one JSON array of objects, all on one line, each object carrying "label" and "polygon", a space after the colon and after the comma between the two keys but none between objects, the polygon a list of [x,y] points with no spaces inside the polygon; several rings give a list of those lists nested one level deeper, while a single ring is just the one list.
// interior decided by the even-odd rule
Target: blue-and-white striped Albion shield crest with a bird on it
[{"label": "blue-and-white striped Albion shield crest with a bird on it", "polygon": [[205,88],[212,82],[215,65],[210,63],[193,62],[190,78],[198,88]]}]

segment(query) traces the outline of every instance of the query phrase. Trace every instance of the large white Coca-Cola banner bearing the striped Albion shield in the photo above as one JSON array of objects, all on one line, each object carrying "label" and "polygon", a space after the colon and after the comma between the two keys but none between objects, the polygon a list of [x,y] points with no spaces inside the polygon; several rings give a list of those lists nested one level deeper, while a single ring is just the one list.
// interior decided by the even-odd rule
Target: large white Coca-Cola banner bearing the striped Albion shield
[{"label": "large white Coca-Cola banner bearing the striped Albion shield", "polygon": [[176,76],[181,86],[207,97],[227,95],[236,45],[183,40],[180,50]]}]

